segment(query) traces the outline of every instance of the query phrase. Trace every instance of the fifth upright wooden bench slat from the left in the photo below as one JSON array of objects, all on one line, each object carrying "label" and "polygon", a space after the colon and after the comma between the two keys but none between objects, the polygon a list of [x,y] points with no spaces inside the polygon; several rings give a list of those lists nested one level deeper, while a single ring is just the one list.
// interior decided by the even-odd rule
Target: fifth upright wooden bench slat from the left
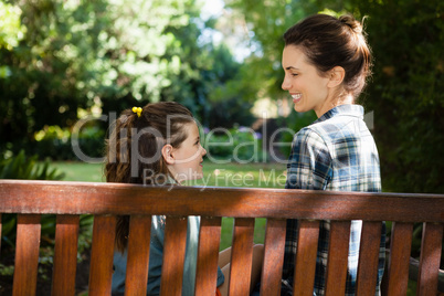
[{"label": "fifth upright wooden bench slat from the left", "polygon": [[163,241],[161,296],[181,296],[187,245],[187,218],[167,216]]}]

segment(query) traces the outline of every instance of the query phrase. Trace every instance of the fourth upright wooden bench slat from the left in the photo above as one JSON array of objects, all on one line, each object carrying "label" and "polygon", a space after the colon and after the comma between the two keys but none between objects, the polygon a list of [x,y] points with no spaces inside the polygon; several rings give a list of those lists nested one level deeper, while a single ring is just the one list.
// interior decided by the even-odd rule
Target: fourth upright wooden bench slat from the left
[{"label": "fourth upright wooden bench slat from the left", "polygon": [[150,215],[130,216],[125,295],[147,295],[150,234]]}]

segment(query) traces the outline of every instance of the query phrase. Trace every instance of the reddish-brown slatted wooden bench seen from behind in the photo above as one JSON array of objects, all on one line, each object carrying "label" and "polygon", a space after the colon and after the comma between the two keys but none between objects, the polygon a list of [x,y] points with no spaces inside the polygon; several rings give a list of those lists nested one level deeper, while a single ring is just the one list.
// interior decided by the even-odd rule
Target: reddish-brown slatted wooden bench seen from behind
[{"label": "reddish-brown slatted wooden bench seen from behind", "polygon": [[181,295],[187,215],[201,216],[195,295],[214,295],[222,216],[235,218],[230,295],[249,295],[255,218],[267,219],[261,295],[279,295],[286,219],[295,218],[302,222],[294,295],[313,295],[319,220],[331,220],[327,295],[343,295],[350,220],[363,220],[358,295],[374,295],[381,221],[394,221],[384,294],[406,294],[415,222],[424,223],[417,295],[437,292],[443,194],[0,180],[1,213],[18,213],[13,295],[35,294],[41,214],[56,214],[52,295],[74,295],[78,220],[86,213],[94,215],[89,296],[110,294],[119,214],[131,216],[126,295],[145,295],[152,214],[167,215],[161,295]]}]

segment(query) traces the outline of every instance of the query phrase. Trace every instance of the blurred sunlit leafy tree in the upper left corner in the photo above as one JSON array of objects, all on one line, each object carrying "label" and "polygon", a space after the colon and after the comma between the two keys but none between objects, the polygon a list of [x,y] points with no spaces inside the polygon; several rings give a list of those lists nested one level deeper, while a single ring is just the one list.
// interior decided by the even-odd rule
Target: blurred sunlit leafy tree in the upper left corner
[{"label": "blurred sunlit leafy tree in the upper left corner", "polygon": [[180,66],[177,57],[163,59],[177,41],[166,28],[190,21],[180,0],[1,3],[2,13],[12,8],[21,20],[7,27],[24,27],[21,40],[0,49],[10,73],[0,78],[3,144],[32,141],[45,125],[70,127],[78,108],[159,101]]}]

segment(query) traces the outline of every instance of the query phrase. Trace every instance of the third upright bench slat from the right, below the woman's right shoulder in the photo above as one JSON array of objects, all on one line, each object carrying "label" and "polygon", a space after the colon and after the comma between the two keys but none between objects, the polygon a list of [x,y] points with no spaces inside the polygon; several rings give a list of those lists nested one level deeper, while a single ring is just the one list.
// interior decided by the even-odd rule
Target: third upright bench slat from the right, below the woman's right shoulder
[{"label": "third upright bench slat from the right, below the woman's right shoulder", "polygon": [[382,222],[362,222],[356,295],[373,296],[378,282]]}]

